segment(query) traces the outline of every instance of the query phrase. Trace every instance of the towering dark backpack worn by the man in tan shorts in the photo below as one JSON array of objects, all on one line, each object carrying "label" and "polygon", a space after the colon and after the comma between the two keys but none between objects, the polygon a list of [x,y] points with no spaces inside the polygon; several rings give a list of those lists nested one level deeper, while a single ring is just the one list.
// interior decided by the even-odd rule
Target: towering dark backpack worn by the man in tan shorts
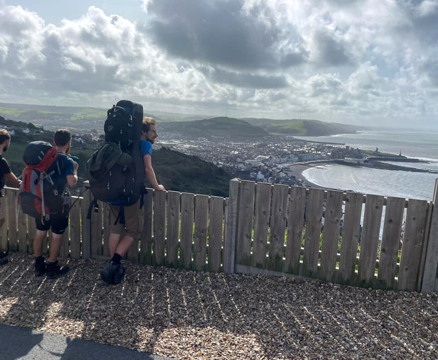
[{"label": "towering dark backpack worn by the man in tan shorts", "polygon": [[[105,143],[87,161],[90,189],[96,200],[118,206],[135,204],[144,193],[144,163],[140,151],[143,107],[120,100],[107,111]],[[122,221],[120,221],[122,222]]]}]

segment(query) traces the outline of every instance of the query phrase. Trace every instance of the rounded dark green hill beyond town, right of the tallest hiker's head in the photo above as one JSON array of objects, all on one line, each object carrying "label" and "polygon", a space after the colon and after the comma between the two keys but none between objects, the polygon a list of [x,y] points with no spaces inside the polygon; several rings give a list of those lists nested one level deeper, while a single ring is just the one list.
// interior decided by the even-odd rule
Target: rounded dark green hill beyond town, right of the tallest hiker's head
[{"label": "rounded dark green hill beyond town, right of the tallest hiker's head", "polygon": [[190,136],[191,139],[203,137],[248,140],[269,135],[258,126],[230,117],[159,123],[159,128],[160,132],[177,132],[185,137]]}]

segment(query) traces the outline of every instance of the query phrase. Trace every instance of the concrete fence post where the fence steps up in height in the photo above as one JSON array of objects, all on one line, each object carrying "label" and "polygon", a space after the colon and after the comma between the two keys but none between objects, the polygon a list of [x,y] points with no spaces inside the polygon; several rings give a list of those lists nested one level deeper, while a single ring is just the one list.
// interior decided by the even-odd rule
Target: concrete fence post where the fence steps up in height
[{"label": "concrete fence post where the fence steps up in height", "polygon": [[227,232],[224,239],[224,272],[226,274],[233,274],[235,269],[235,237],[237,230],[239,184],[240,181],[237,178],[230,180],[228,216],[225,224]]}]

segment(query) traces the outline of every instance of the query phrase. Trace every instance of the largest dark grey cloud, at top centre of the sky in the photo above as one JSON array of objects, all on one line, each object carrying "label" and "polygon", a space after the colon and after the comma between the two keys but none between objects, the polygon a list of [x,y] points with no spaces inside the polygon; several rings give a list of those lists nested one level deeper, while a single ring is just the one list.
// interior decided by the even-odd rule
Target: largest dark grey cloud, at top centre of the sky
[{"label": "largest dark grey cloud, at top centre of the sky", "polygon": [[[276,23],[266,5],[243,9],[242,0],[159,0],[143,31],[172,56],[233,69],[276,69],[305,62],[302,38]],[[287,25],[287,27],[285,27]]]}]

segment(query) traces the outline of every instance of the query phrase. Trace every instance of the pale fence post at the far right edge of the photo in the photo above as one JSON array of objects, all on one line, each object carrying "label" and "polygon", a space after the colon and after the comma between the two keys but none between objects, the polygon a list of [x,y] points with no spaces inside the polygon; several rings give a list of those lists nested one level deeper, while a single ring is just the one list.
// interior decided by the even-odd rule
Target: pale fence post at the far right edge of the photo
[{"label": "pale fence post at the far right edge of the photo", "polygon": [[435,180],[433,191],[433,208],[430,219],[430,230],[428,236],[426,260],[424,261],[424,272],[422,281],[422,293],[431,293],[435,289],[438,267],[438,179]]}]

